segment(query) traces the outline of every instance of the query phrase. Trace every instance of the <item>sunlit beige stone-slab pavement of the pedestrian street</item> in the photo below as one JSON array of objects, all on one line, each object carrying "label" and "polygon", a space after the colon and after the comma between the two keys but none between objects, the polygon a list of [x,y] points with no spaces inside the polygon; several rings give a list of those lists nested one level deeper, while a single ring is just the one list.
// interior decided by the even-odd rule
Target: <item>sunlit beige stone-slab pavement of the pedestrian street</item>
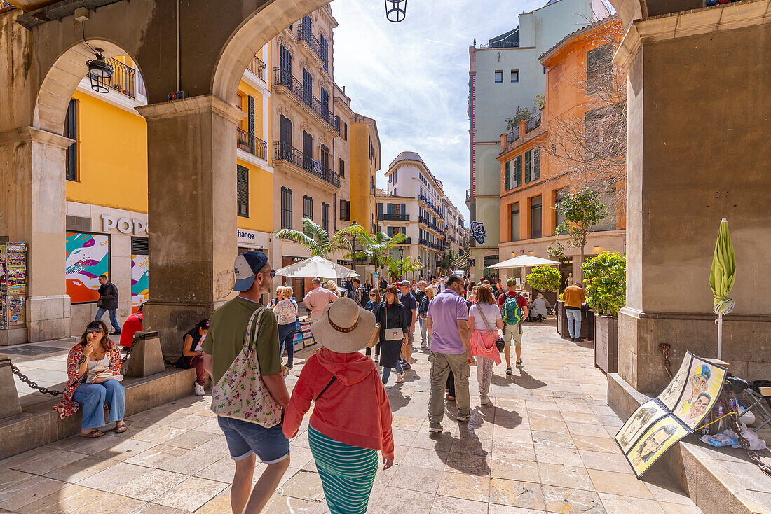
[{"label": "sunlit beige stone-slab pavement of the pedestrian street", "polygon": [[[449,402],[441,435],[428,432],[426,353],[413,354],[402,384],[392,376],[396,460],[379,470],[368,512],[701,512],[668,475],[635,479],[612,440],[621,420],[608,408],[591,342],[527,325],[523,348],[524,369],[507,376],[503,364],[495,368],[490,405],[480,405],[472,371],[470,422],[455,422]],[[295,354],[288,385],[312,351]],[[123,434],[74,436],[0,461],[0,512],[230,512],[234,465],[209,405],[210,395],[182,398],[127,418]],[[328,512],[307,422],[264,512]]]}]

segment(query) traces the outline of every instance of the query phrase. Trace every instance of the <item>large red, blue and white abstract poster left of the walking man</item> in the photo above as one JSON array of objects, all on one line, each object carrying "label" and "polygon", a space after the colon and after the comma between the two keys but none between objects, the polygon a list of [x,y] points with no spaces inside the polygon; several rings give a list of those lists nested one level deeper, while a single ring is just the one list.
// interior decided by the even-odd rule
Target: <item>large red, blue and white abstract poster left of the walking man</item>
[{"label": "large red, blue and white abstract poster left of the walking man", "polygon": [[109,236],[68,232],[66,252],[67,294],[72,303],[99,300],[99,276],[109,277]]}]

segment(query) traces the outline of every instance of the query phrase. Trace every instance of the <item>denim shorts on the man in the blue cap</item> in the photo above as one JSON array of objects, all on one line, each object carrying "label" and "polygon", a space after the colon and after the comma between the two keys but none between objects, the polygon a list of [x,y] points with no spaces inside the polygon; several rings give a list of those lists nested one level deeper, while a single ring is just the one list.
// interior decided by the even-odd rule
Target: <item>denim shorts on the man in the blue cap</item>
[{"label": "denim shorts on the man in the blue cap", "polygon": [[281,425],[265,428],[257,423],[222,416],[217,416],[217,423],[225,434],[227,448],[235,461],[256,453],[265,464],[274,464],[289,455],[289,439],[284,436]]}]

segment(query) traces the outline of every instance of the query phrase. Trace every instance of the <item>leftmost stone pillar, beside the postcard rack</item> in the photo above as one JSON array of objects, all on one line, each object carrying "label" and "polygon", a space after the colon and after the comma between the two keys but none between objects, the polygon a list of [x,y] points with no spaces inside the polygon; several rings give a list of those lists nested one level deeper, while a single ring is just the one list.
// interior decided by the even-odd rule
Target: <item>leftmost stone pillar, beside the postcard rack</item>
[{"label": "leftmost stone pillar, beside the postcard rack", "polygon": [[27,340],[69,337],[65,149],[72,139],[21,127],[0,133],[0,236],[27,244]]}]

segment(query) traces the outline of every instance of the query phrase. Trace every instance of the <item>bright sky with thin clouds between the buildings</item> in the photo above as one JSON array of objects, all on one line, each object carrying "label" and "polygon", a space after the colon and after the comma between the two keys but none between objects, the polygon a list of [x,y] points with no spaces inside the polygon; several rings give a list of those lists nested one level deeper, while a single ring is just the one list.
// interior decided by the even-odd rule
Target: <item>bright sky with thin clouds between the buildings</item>
[{"label": "bright sky with thin clouds between the buildings", "polygon": [[384,173],[414,151],[468,221],[469,46],[517,26],[546,0],[407,0],[401,23],[382,0],[335,0],[335,82],[355,112],[377,120]]}]

